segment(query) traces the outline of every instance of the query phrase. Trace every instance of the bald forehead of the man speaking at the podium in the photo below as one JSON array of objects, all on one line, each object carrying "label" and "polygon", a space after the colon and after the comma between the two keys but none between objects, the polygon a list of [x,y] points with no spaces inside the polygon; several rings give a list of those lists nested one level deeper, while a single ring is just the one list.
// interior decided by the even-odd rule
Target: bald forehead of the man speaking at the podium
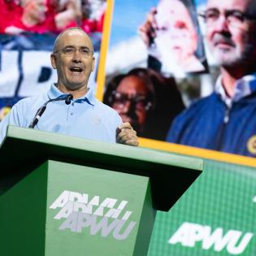
[{"label": "bald forehead of the man speaking at the podium", "polygon": [[59,38],[59,47],[65,46],[87,46],[92,50],[92,41],[90,38],[80,30],[70,30],[63,33]]}]

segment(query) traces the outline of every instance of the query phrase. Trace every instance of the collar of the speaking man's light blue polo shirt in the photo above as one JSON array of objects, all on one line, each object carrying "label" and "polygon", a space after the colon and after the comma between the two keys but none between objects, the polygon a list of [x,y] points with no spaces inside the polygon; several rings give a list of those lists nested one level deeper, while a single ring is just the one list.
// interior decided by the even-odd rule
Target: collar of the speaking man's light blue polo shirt
[{"label": "collar of the speaking man's light blue polo shirt", "polygon": [[[64,95],[64,94],[67,94],[67,93],[61,92],[57,88],[56,84],[50,85],[50,90],[48,91],[48,97],[50,99],[58,98],[59,96]],[[96,103],[96,98],[93,96],[93,89],[89,88],[88,92],[85,94],[85,96],[74,99],[74,102],[77,102],[77,103],[87,102],[87,103],[89,103],[89,105],[94,106],[94,104]]]}]

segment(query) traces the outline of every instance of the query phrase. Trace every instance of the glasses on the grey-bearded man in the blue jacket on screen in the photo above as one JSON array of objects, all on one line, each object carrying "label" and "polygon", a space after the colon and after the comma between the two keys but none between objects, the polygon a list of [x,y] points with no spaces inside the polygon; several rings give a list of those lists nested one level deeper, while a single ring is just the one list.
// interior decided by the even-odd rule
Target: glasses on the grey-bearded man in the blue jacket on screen
[{"label": "glasses on the grey-bearded man in the blue jacket on screen", "polygon": [[239,10],[226,10],[220,12],[216,8],[211,8],[206,10],[204,13],[199,14],[199,16],[201,16],[205,20],[207,25],[214,25],[219,20],[219,17],[221,15],[224,16],[225,20],[227,20],[229,25],[237,28],[242,28],[245,24],[245,21],[256,20],[256,17],[254,15],[249,15],[248,13]]}]

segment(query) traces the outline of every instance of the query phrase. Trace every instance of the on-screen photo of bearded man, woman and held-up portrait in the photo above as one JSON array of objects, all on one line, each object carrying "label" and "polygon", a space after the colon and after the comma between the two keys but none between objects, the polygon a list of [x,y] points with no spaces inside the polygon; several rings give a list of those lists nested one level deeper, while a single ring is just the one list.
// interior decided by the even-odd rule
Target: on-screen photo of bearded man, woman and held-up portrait
[{"label": "on-screen photo of bearded man, woman and held-up portrait", "polygon": [[252,10],[246,2],[116,0],[103,102],[151,140],[143,145],[254,157]]}]

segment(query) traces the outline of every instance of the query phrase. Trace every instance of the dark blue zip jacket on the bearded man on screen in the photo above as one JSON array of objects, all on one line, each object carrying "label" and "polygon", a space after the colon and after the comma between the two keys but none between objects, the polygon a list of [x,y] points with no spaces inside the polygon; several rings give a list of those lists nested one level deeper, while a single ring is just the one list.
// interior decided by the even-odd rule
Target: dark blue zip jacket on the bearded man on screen
[{"label": "dark blue zip jacket on the bearded man on screen", "polygon": [[256,156],[256,92],[232,102],[219,94],[195,102],[176,117],[167,141],[209,150]]}]

